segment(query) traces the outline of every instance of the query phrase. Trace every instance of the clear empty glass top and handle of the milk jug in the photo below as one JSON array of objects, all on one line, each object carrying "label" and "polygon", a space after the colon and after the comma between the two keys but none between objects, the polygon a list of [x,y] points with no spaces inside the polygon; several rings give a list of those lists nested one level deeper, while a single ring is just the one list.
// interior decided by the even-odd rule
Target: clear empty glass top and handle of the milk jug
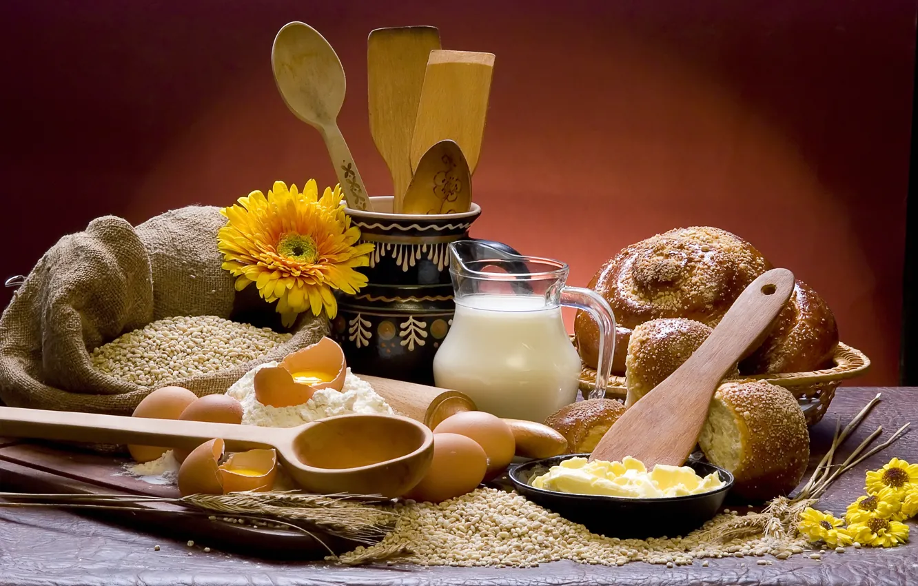
[{"label": "clear empty glass top and handle of the milk jug", "polygon": [[[533,311],[561,305],[587,311],[599,326],[599,364],[595,388],[588,398],[604,397],[615,349],[615,317],[609,303],[590,289],[567,287],[570,270],[565,263],[513,254],[509,247],[501,249],[495,244],[471,240],[450,243],[450,276],[456,304],[478,307],[484,299],[490,307],[500,311]],[[493,299],[492,296],[526,299]]]}]

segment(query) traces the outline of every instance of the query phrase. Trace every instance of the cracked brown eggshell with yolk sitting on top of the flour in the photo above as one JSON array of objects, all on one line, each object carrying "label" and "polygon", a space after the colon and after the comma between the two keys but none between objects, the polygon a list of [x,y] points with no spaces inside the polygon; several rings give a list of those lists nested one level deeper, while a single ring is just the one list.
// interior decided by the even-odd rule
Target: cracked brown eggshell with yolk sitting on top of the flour
[{"label": "cracked brown eggshell with yolk sitting on top of the flour", "polygon": [[255,399],[263,405],[302,405],[319,389],[344,388],[347,363],[344,351],[331,338],[287,355],[278,366],[255,373]]}]

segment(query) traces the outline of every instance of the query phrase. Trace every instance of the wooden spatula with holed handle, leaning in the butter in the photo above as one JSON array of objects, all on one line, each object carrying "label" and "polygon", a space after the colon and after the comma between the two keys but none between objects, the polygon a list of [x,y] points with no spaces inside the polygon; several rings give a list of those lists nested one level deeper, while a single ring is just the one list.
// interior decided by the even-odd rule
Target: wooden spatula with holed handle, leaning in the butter
[{"label": "wooden spatula with holed handle, leaning in the butter", "polygon": [[794,276],[784,268],[756,278],[704,344],[612,424],[589,459],[621,461],[632,456],[648,469],[656,464],[682,466],[698,443],[721,379],[761,341],[793,288]]}]

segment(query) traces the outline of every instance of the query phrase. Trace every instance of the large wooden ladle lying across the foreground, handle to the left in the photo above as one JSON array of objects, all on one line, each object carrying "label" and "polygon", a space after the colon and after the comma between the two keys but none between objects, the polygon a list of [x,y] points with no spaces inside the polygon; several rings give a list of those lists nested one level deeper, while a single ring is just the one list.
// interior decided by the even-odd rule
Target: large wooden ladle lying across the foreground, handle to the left
[{"label": "large wooden ladle lying across the foreground, handle to the left", "polygon": [[222,438],[230,452],[273,447],[304,490],[387,498],[401,496],[420,482],[433,456],[433,433],[423,423],[371,414],[273,428],[0,407],[0,434],[189,450]]}]

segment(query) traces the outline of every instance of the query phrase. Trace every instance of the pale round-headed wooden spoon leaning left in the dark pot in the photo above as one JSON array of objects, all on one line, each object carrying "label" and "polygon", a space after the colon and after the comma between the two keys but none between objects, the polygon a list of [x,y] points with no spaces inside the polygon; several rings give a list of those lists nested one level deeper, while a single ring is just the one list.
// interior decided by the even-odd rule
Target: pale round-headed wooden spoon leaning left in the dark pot
[{"label": "pale round-headed wooden spoon leaning left in the dark pot", "polygon": [[338,129],[344,70],[329,41],[305,23],[287,23],[274,38],[271,65],[286,106],[322,135],[348,208],[372,209],[364,180]]}]

